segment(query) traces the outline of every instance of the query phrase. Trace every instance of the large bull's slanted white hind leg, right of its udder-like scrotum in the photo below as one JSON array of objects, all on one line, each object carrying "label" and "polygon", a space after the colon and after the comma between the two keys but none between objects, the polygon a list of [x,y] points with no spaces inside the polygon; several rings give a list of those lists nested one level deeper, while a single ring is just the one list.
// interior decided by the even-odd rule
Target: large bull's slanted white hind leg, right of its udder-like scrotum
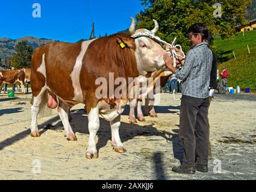
[{"label": "large bull's slanted white hind leg, right of its udder-like scrotum", "polygon": [[58,104],[58,115],[60,116],[60,119],[63,123],[67,140],[70,140],[70,141],[77,140],[75,133],[73,133],[73,130],[69,124],[69,107],[62,101],[59,101],[59,104]]}]

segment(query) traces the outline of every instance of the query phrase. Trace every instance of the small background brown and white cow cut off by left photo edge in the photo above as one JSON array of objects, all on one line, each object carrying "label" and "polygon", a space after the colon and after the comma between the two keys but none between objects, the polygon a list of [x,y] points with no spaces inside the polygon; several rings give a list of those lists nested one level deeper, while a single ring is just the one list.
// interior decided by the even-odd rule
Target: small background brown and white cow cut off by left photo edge
[{"label": "small background brown and white cow cut off by left photo edge", "polygon": [[[2,83],[19,84],[21,94],[25,94],[25,73],[21,70],[6,70],[0,72],[0,87]],[[1,90],[0,90],[1,91]]]}]

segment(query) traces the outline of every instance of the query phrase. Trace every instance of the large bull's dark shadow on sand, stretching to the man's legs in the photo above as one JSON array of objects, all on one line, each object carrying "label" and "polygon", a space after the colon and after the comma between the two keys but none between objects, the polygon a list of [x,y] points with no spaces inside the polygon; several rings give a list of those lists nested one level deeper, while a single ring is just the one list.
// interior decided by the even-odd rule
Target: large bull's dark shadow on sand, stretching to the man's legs
[{"label": "large bull's dark shadow on sand, stretching to the man's legs", "polygon": [[[80,110],[72,110],[71,111],[72,121],[70,125],[74,133],[83,133],[89,134],[88,129],[88,118],[84,109]],[[51,121],[52,122],[52,121]],[[46,122],[45,124],[51,123]],[[82,122],[82,123],[81,123]],[[98,143],[96,144],[97,150],[101,149],[105,145],[107,145],[108,140],[111,140],[111,128],[110,123],[105,121],[104,118],[99,118],[100,127],[97,132]],[[83,125],[81,127],[81,125]],[[63,124],[61,121],[58,121],[54,126],[48,126],[48,129],[51,130],[63,130]],[[174,130],[173,133],[169,133],[166,131],[157,130],[153,125],[139,125],[139,124],[130,124],[126,122],[121,122],[119,128],[119,135],[122,142],[126,142],[128,140],[133,139],[136,136],[161,136],[166,139],[167,142],[172,142],[173,144],[173,154],[175,158],[178,158],[180,161],[183,157],[183,145],[181,141],[178,139],[178,134],[176,134],[178,130]]]}]

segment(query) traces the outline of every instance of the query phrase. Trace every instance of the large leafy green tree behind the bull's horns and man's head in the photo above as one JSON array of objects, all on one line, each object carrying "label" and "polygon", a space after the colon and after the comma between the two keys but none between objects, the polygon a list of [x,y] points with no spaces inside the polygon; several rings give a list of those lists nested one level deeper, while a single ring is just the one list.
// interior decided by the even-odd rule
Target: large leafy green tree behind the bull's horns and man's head
[{"label": "large leafy green tree behind the bull's horns and man's head", "polygon": [[191,44],[187,38],[190,25],[205,23],[213,35],[225,38],[236,33],[236,27],[245,25],[245,10],[252,0],[222,0],[222,16],[214,17],[214,0],[140,0],[145,10],[136,15],[137,28],[154,28],[152,19],[158,21],[157,35],[171,42],[177,37],[176,44],[182,44],[185,51]]}]

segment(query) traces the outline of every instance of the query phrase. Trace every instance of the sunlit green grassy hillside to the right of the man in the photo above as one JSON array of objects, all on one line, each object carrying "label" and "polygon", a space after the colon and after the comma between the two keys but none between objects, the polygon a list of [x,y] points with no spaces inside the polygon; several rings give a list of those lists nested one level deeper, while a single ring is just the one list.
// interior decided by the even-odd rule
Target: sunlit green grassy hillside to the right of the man
[{"label": "sunlit green grassy hillside to the right of the man", "polygon": [[251,88],[251,91],[256,92],[256,31],[245,32],[245,36],[240,32],[225,40],[216,38],[214,44],[220,50],[217,54],[219,71],[224,66],[228,69],[228,86],[239,85],[242,90]]}]

